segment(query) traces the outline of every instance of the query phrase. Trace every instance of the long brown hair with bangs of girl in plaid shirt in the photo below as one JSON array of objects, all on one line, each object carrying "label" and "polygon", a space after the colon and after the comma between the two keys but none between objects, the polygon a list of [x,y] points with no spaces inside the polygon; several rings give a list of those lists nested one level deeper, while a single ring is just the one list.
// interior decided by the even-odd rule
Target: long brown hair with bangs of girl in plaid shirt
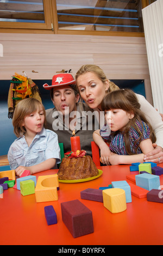
[{"label": "long brown hair with bangs of girl in plaid shirt", "polygon": [[[129,123],[126,127],[123,129],[124,133],[124,142],[126,144],[126,150],[129,155],[133,155],[130,149],[130,142],[129,142],[129,129],[132,126],[138,133],[139,133],[139,139],[137,139],[134,142],[135,151],[139,147],[141,143],[141,137],[143,135],[143,124],[142,121],[144,121],[150,129],[150,138],[152,140],[152,143],[156,141],[155,133],[152,129],[151,124],[145,117],[145,114],[140,110],[140,103],[137,100],[137,97],[135,93],[130,89],[120,89],[115,90],[113,92],[108,93],[102,103],[101,107],[103,111],[109,111],[110,109],[123,109],[123,111],[126,111],[128,113],[134,113],[134,117],[130,119]],[[138,127],[135,125],[135,121],[138,120],[142,126],[142,131],[138,129]]]}]

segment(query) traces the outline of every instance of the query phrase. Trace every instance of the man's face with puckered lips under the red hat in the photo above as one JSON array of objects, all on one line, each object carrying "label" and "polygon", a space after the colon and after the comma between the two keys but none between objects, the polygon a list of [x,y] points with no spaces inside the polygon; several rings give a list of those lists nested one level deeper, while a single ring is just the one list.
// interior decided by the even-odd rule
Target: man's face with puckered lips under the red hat
[{"label": "man's face with puckered lips under the red hat", "polygon": [[67,115],[76,110],[76,103],[79,100],[79,94],[76,96],[70,86],[53,88],[53,104],[57,111]]}]

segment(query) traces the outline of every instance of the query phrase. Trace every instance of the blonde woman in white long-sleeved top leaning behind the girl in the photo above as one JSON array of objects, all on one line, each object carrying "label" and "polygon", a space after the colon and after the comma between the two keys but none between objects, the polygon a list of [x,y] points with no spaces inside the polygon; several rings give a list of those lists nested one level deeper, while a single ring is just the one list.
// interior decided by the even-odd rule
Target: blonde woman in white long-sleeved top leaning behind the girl
[{"label": "blonde woman in white long-sleeved top leaning behind the girl", "polygon": [[[103,70],[96,65],[83,65],[76,74],[76,82],[80,96],[86,104],[95,110],[102,111],[101,102],[108,92],[118,87],[110,82]],[[144,161],[163,162],[163,122],[160,114],[142,95],[135,94],[140,103],[140,109],[145,113],[156,135],[155,149],[145,155]],[[97,112],[97,111],[96,111]],[[105,143],[104,143],[105,144]]]}]

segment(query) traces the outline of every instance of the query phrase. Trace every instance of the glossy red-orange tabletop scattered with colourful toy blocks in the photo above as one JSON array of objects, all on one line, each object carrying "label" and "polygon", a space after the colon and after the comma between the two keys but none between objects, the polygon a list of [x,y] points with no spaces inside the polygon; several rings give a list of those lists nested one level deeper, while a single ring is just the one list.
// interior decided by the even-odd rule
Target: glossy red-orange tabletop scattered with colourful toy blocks
[{"label": "glossy red-orange tabletop scattered with colourful toy blocks", "polygon": [[[159,164],[163,167],[163,164]],[[112,214],[103,203],[80,198],[86,188],[108,186],[111,181],[127,180],[129,166],[99,167],[103,170],[98,179],[76,183],[60,183],[59,199],[53,202],[36,203],[35,194],[22,196],[21,192],[9,188],[0,199],[0,244],[1,245],[163,245],[163,204],[148,202],[147,198],[132,196],[127,210]],[[57,170],[37,173],[51,175]],[[129,180],[127,180],[129,181]],[[160,176],[163,185],[163,175]],[[94,232],[73,238],[62,222],[61,202],[79,199],[92,211]],[[58,223],[47,225],[44,207],[53,205]]]}]

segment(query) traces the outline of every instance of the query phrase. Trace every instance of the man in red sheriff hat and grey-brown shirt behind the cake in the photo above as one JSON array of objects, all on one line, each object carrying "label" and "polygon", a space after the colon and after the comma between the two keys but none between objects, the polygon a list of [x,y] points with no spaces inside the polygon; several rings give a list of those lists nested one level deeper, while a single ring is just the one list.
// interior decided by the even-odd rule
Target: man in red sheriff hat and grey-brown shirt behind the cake
[{"label": "man in red sheriff hat and grey-brown shirt behind the cake", "polygon": [[71,74],[58,74],[53,76],[52,86],[43,84],[50,90],[54,108],[46,110],[47,129],[58,135],[59,143],[64,144],[64,153],[71,151],[72,132],[80,137],[81,150],[92,156],[91,141],[95,131],[95,115],[93,109],[79,101],[76,81]]}]

